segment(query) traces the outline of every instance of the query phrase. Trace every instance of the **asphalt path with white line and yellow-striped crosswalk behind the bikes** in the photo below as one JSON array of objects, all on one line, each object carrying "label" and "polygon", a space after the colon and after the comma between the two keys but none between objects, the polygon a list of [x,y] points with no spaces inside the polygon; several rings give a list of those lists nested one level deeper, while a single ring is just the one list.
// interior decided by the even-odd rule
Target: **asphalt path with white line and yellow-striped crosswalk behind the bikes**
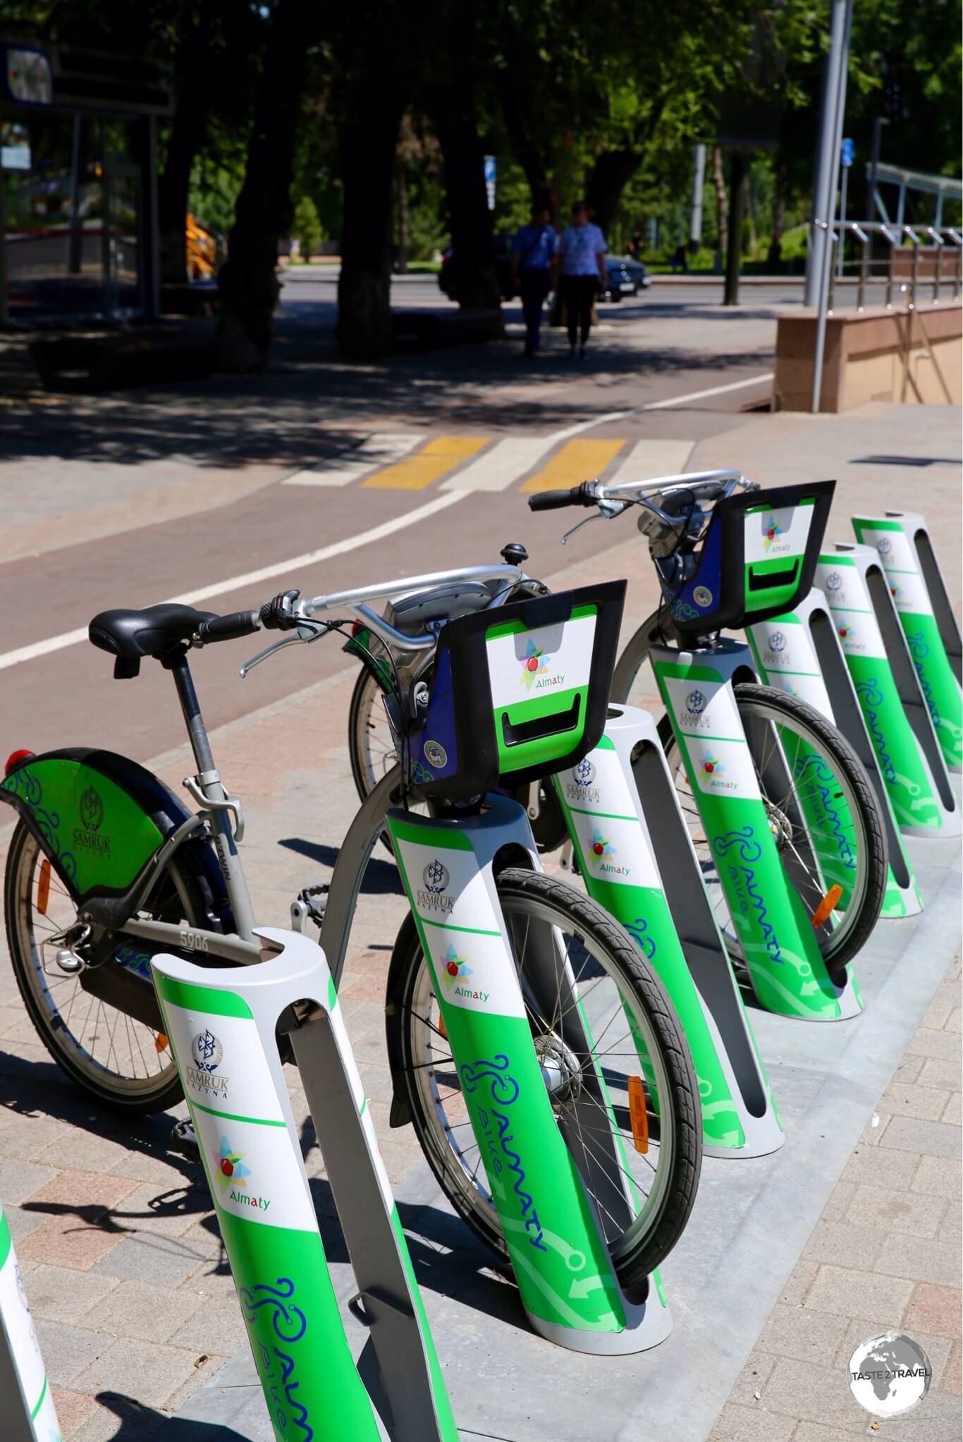
[{"label": "asphalt path with white line and yellow-striped crosswalk behind the bikes", "polygon": [[[441,298],[434,277],[395,290],[412,303],[422,303],[422,296]],[[604,307],[593,365],[574,371],[564,337],[554,335],[535,372],[519,369],[513,340],[399,358],[383,368],[350,371],[329,352],[314,363],[304,336],[323,337],[333,294],[330,278],[285,286],[278,353],[290,363],[280,373],[117,397],[59,397],[9,410],[0,438],[0,497],[16,493],[29,463],[33,541],[29,554],[0,564],[6,622],[0,760],[14,747],[71,744],[148,758],[183,740],[172,684],[160,666],[146,660],[140,678],[115,682],[105,653],[85,640],[58,643],[104,609],[148,606],[213,585],[216,594],[199,604],[231,611],[293,585],[320,594],[496,561],[500,548],[518,539],[529,548],[531,571],[548,575],[567,555],[559,551],[561,534],[580,518],[532,515],[522,492],[526,477],[561,466],[568,472],[556,483],[572,485],[585,473],[611,476],[629,456],[636,456],[642,474],[665,473],[669,461],[679,469],[696,440],[750,423],[745,408],[768,395],[771,307],[719,311],[704,288],[688,307],[676,290],[665,300],[649,294],[640,307]],[[663,306],[666,313],[659,314]],[[506,319],[513,337],[510,307]],[[581,450],[562,434],[580,425],[587,427]],[[389,479],[383,489],[363,479],[337,486],[284,483],[293,472],[323,466],[339,448],[385,433],[409,434],[415,454],[425,446],[444,453],[453,438],[474,451],[451,464],[444,454],[430,461],[435,474],[417,476],[411,489],[405,476]],[[519,438],[536,448],[543,441],[531,466],[512,461]],[[509,460],[503,470],[497,456],[490,461],[494,489],[487,489],[490,480],[484,489],[445,489],[500,443],[510,443]],[[640,443],[642,451],[633,450]],[[252,482],[248,467],[255,460]],[[731,461],[731,453],[719,453],[718,464]],[[185,513],[186,503],[172,500],[174,482],[203,492],[212,467],[221,467],[219,486],[209,502],[195,496],[195,513]],[[128,486],[133,500],[117,529],[114,492]],[[10,505],[7,516],[14,525],[20,519]],[[61,528],[52,549],[45,523]],[[580,534],[578,555],[624,539],[630,525],[623,519],[590,526]],[[373,538],[356,544],[372,531]],[[303,559],[317,551],[320,557]],[[649,564],[642,548],[639,561]],[[265,567],[275,574],[244,580]],[[198,655],[195,676],[210,728],[346,665],[332,639],[310,650],[291,647],[242,682],[238,666],[259,649],[258,642]]]}]

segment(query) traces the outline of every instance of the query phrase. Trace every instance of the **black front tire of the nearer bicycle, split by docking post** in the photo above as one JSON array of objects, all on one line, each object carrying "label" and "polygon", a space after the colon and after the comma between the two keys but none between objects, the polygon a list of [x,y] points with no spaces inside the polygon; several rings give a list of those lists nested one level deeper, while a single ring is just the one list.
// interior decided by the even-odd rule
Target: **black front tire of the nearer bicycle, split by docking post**
[{"label": "black front tire of the nearer bicycle, split by docking post", "polygon": [[[644,1009],[652,1030],[659,1038],[662,1058],[669,1076],[669,1089],[673,1097],[676,1146],[670,1180],[665,1188],[662,1207],[653,1220],[653,1226],[644,1236],[639,1237],[631,1252],[621,1256],[617,1263],[617,1275],[621,1286],[630,1288],[639,1285],[665,1260],[678,1243],[689,1220],[699,1185],[702,1164],[699,1090],[682,1028],[656,972],[649,966],[647,960],[618,923],[594,901],[574,891],[572,887],[556,881],[554,877],[520,868],[510,868],[500,872],[496,885],[499,895],[515,890],[522,895],[528,894],[533,897],[545,906],[556,907],[571,919],[574,930],[578,930],[581,934],[593,934],[624,969],[631,983],[634,1002]],[[411,999],[424,959],[411,914],[405,917],[395,940],[396,955],[392,957],[392,968],[401,963],[401,952],[408,953],[404,963],[405,970],[401,988],[402,1015],[405,1018],[405,1024],[401,1028],[402,1074],[418,1144],[438,1185],[463,1221],[466,1221],[480,1242],[490,1247],[503,1262],[507,1262],[509,1253],[502,1231],[497,1227],[489,1226],[476,1210],[463,1210],[460,1207],[460,1195],[454,1187],[448,1185],[448,1177],[438,1149],[434,1145],[425,1145],[425,1138],[434,1144],[435,1133],[425,1116],[421,1093],[412,1082],[412,1069],[417,1058],[409,1031],[412,1017]]]}]

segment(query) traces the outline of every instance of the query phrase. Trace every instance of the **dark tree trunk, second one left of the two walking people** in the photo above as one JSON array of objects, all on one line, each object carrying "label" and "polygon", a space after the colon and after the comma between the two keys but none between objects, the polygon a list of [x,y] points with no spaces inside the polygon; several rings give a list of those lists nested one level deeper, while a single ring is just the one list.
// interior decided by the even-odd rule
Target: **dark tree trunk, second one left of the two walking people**
[{"label": "dark tree trunk, second one left of the two walking people", "polygon": [[388,85],[359,89],[342,131],[342,273],[337,349],[346,360],[391,350],[391,187],[402,101]]}]

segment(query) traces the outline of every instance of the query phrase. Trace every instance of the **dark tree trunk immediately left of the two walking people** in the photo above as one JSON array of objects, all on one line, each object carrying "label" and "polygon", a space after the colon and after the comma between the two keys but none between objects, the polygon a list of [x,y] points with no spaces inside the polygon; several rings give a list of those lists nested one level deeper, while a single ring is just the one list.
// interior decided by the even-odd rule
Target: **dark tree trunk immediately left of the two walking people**
[{"label": "dark tree trunk immediately left of the two walking people", "polygon": [[469,310],[499,310],[502,296],[494,270],[482,137],[474,115],[461,112],[458,101],[461,97],[445,95],[435,107],[451,216],[456,300]]}]

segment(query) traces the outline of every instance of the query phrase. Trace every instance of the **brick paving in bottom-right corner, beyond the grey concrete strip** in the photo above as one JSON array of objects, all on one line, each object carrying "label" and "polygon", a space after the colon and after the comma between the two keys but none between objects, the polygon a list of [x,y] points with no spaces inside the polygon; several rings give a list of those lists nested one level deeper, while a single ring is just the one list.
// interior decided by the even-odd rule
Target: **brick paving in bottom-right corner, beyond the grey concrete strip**
[{"label": "brick paving in bottom-right corner, beyond the grey concrete strip", "polygon": [[888,1442],[960,1436],[960,963],[953,962],[882,1093],[732,1387],[709,1442],[845,1442],[872,1430],[846,1368],[900,1328],[933,1383],[878,1423]]}]

